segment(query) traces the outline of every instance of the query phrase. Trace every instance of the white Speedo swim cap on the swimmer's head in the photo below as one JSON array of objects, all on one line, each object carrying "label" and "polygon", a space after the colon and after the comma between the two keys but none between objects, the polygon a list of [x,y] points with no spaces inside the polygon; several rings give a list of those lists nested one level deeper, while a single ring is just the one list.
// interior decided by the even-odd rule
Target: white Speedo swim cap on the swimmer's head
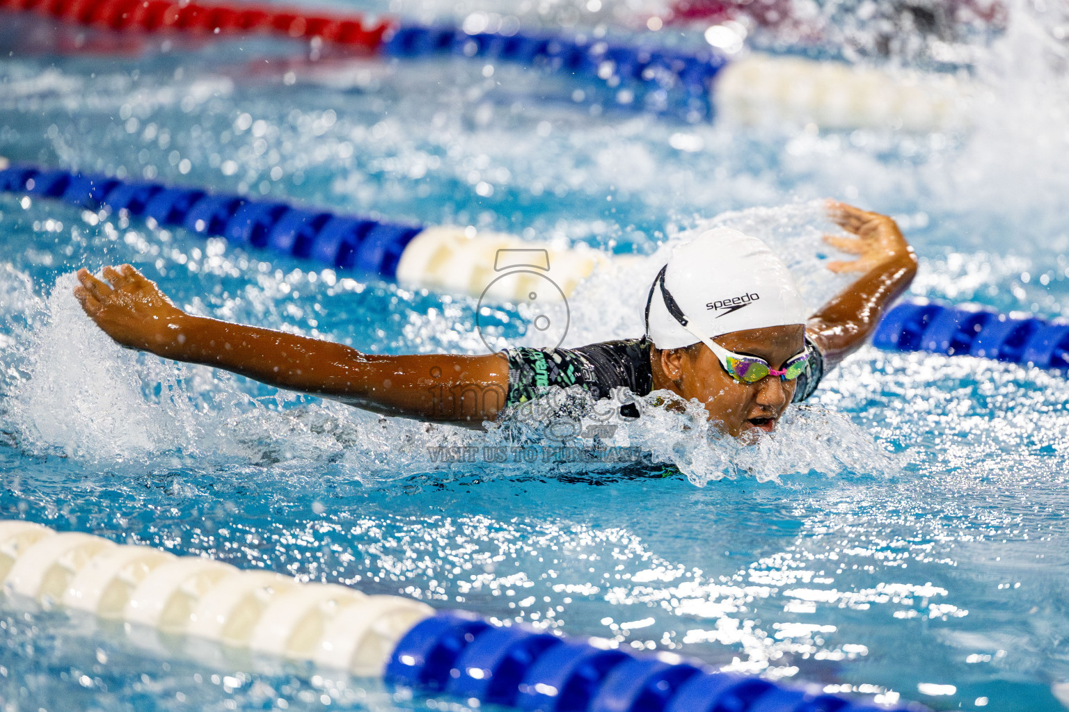
[{"label": "white Speedo swim cap on the swimmer's head", "polygon": [[653,281],[646,334],[659,349],[678,349],[701,337],[805,323],[806,316],[794,278],[764,242],[714,227],[676,248]]}]

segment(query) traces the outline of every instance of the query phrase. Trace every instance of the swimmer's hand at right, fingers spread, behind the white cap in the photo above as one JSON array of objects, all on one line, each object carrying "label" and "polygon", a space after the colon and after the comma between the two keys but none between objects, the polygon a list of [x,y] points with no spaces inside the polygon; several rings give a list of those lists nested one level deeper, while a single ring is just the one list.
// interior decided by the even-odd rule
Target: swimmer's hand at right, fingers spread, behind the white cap
[{"label": "swimmer's hand at right, fingers spread, behind the white cap", "polygon": [[857,255],[856,259],[827,263],[836,273],[868,272],[896,260],[915,262],[901,231],[894,220],[879,212],[868,212],[838,201],[827,202],[828,217],[848,233],[857,237],[825,235],[824,241],[836,250]]}]

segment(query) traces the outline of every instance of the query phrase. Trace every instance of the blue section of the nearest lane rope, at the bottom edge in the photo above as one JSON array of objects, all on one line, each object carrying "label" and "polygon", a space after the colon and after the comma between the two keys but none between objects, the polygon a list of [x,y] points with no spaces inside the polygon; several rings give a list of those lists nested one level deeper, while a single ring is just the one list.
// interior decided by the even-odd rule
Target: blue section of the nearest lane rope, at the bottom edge
[{"label": "blue section of the nearest lane rope, at the bottom edge", "polygon": [[[675,656],[673,656],[675,658]],[[700,663],[635,655],[549,635],[498,628],[445,611],[398,643],[386,680],[524,712],[918,712],[799,690]]]}]

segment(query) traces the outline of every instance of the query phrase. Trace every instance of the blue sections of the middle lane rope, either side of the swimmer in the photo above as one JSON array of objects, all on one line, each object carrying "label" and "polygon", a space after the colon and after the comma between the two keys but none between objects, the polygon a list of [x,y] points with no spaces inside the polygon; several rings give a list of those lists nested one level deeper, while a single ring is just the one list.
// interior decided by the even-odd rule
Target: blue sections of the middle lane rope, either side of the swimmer
[{"label": "blue sections of the middle lane rope, either side of the swimmer", "polygon": [[[0,191],[53,197],[91,210],[125,209],[160,225],[222,237],[235,246],[266,249],[386,280],[397,278],[405,248],[425,228],[157,183],[43,171],[32,165],[0,171]],[[1007,316],[967,305],[898,304],[880,321],[872,345],[889,351],[931,351],[1039,368],[1069,368],[1069,323]]]}]

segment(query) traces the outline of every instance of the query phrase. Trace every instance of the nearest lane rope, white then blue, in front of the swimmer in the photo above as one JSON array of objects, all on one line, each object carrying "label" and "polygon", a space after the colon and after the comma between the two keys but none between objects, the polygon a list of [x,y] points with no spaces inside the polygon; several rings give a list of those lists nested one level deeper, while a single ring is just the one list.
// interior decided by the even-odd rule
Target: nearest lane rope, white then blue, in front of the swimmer
[{"label": "nearest lane rope, white then blue, in front of the swimmer", "polygon": [[134,623],[137,643],[152,644],[145,631],[167,633],[172,650],[179,646],[208,664],[205,640],[525,712],[892,712],[671,653],[632,654],[607,640],[492,626],[399,596],[303,583],[27,521],[0,521],[0,584],[45,607]]}]

